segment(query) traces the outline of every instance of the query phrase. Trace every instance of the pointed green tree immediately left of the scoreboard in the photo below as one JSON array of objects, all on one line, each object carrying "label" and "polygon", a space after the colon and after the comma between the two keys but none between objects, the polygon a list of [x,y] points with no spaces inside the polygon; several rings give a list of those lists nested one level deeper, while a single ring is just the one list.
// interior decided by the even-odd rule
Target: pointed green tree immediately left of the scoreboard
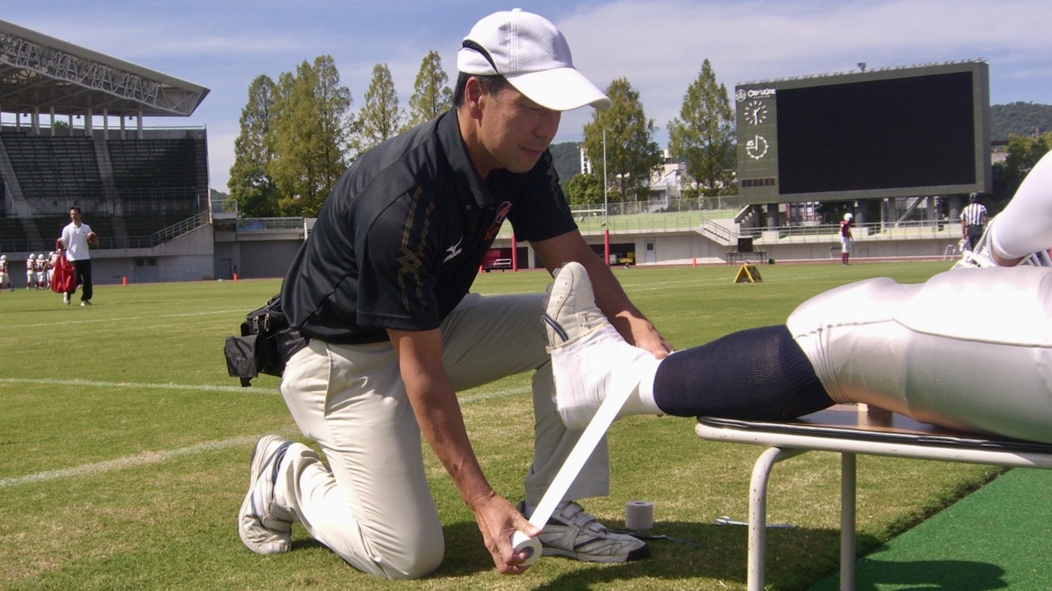
[{"label": "pointed green tree immediately left of the scoreboard", "polygon": [[716,83],[708,59],[683,97],[680,117],[668,125],[669,151],[686,162],[687,175],[697,183],[697,192],[714,197],[734,195],[737,155],[734,110],[727,86]]}]

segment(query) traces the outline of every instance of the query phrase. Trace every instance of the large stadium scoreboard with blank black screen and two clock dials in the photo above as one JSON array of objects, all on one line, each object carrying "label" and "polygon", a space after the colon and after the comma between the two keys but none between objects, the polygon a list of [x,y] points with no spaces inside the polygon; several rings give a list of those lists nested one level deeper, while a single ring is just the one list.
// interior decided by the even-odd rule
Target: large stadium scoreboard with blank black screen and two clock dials
[{"label": "large stadium scoreboard with blank black screen and two clock dials", "polygon": [[734,99],[742,203],[990,192],[986,62],[748,82]]}]

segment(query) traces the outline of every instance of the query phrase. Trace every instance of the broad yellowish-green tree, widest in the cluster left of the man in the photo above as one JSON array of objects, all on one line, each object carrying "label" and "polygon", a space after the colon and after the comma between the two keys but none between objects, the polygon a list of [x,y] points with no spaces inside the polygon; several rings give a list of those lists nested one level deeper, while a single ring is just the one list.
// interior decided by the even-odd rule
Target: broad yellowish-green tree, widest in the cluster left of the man
[{"label": "broad yellowish-green tree, widest in the cluster left of the man", "polygon": [[340,86],[331,56],[304,61],[278,79],[271,124],[275,158],[266,166],[280,195],[283,216],[313,217],[340,175],[351,127],[350,90]]}]

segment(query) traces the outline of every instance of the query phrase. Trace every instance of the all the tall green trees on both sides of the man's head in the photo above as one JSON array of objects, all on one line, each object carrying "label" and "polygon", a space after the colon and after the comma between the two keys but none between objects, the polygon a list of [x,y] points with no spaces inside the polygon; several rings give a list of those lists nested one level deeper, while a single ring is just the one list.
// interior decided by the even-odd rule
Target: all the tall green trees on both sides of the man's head
[{"label": "all the tall green trees on both sides of the man's head", "polygon": [[[248,87],[234,143],[230,198],[246,218],[316,217],[355,158],[452,106],[448,82],[439,54],[429,52],[406,110],[387,64],[377,64],[364,104],[353,113],[350,90],[340,84],[331,56],[304,61],[277,80],[258,76]],[[644,199],[651,174],[665,160],[653,140],[654,122],[631,83],[619,78],[606,94],[613,106],[594,111],[584,126],[583,147],[596,166],[564,179],[567,200],[574,205]],[[669,134],[672,157],[686,162],[687,175],[697,181],[684,187],[687,196],[734,192],[734,111],[709,60],[684,95]],[[610,185],[601,177],[604,162]]]}]

